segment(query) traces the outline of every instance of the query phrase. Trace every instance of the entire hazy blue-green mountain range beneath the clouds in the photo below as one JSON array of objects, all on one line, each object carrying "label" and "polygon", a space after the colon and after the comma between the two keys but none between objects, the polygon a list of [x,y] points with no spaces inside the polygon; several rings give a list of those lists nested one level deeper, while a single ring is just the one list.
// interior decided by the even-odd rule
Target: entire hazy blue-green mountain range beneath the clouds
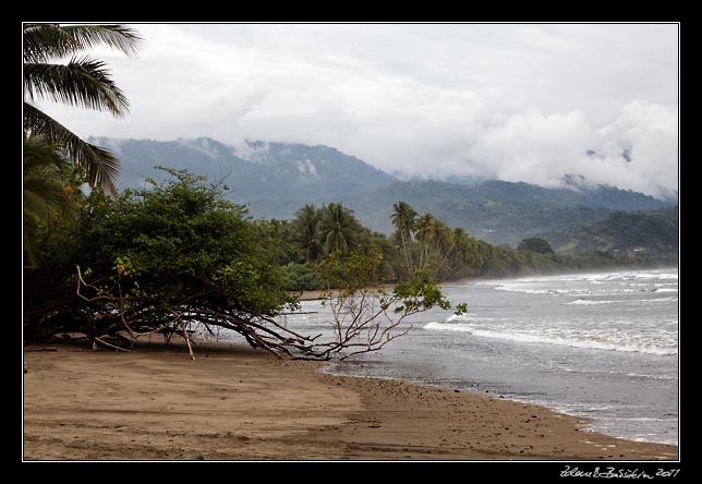
[{"label": "entire hazy blue-green mountain range beneath the clouds", "polygon": [[[323,145],[245,141],[229,146],[207,137],[170,142],[90,137],[89,142],[111,148],[120,158],[119,189],[142,186],[146,178],[165,180],[167,174],[156,166],[185,168],[223,181],[227,197],[247,204],[254,218],[289,219],[307,203],[342,202],[363,225],[384,233],[392,230],[392,204],[404,201],[417,213],[432,213],[486,242],[516,246],[524,238],[547,235],[564,246],[577,246],[566,242],[566,232],[590,233],[576,229],[615,211],[677,204],[613,186],[589,186],[577,174],[558,189],[499,180],[402,181]],[[592,245],[597,249],[593,243],[588,246]]]}]

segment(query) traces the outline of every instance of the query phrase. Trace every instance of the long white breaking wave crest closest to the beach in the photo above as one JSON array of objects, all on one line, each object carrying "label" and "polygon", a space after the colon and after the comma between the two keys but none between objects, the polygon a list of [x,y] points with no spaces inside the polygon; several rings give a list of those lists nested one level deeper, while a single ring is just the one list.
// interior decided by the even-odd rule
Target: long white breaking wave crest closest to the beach
[{"label": "long white breaking wave crest closest to the beach", "polygon": [[516,330],[495,330],[475,327],[467,323],[445,324],[431,322],[424,326],[424,329],[435,331],[460,331],[469,332],[474,336],[483,338],[495,338],[516,342],[525,343],[541,343],[541,344],[556,344],[571,348],[583,348],[591,350],[605,350],[605,351],[622,351],[622,352],[638,352],[658,355],[675,355],[678,354],[676,347],[662,347],[644,343],[624,343],[614,341],[601,341],[583,336],[549,336],[544,335],[543,331],[516,331]]}]

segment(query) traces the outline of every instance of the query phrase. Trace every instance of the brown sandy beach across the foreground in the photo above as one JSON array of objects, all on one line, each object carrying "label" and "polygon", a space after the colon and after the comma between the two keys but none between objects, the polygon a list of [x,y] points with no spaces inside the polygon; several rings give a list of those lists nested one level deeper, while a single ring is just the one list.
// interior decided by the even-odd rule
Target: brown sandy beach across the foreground
[{"label": "brown sandy beach across the foreground", "polygon": [[[47,351],[48,350],[48,351]],[[25,460],[676,460],[548,409],[242,346],[27,346]]]}]

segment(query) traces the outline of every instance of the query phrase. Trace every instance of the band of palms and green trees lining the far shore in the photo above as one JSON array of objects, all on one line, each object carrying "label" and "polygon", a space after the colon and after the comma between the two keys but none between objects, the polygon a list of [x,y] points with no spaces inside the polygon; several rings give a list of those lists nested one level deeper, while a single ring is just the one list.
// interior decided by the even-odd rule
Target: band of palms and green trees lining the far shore
[{"label": "band of palms and green trees lining the far shore", "polygon": [[[624,222],[641,217],[640,214],[632,215]],[[379,275],[385,282],[406,278],[414,270],[448,280],[677,262],[677,251],[674,250],[677,247],[677,228],[668,230],[668,245],[662,245],[658,251],[653,246],[641,253],[633,251],[638,247],[636,241],[647,240],[642,230],[649,226],[643,225],[638,232],[637,226],[633,227],[634,235],[630,237],[627,250],[595,249],[562,254],[556,253],[549,242],[541,238],[526,238],[517,250],[488,244],[469,235],[460,227],[450,228],[432,214],[419,215],[406,202],[392,205],[390,220],[395,231],[387,237],[363,227],[350,209],[334,203],[322,206],[307,204],[296,211],[292,220],[259,223],[276,227],[276,237],[289,247],[280,263],[286,266],[290,290],[320,289],[325,281],[318,276],[317,267],[334,250],[379,252],[383,257]],[[621,230],[627,230],[626,223],[622,227]]]}]

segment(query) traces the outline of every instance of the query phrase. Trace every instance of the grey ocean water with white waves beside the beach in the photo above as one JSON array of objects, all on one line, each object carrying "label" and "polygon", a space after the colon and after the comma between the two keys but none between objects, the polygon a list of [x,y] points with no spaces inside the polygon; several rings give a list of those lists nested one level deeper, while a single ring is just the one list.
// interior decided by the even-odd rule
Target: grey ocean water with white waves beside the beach
[{"label": "grey ocean water with white waves beside the beach", "polygon": [[[465,280],[443,285],[468,313],[431,310],[380,351],[330,373],[400,378],[537,403],[615,437],[678,444],[678,268]],[[331,334],[319,301],[280,318]],[[226,334],[220,339],[230,339]]]}]

